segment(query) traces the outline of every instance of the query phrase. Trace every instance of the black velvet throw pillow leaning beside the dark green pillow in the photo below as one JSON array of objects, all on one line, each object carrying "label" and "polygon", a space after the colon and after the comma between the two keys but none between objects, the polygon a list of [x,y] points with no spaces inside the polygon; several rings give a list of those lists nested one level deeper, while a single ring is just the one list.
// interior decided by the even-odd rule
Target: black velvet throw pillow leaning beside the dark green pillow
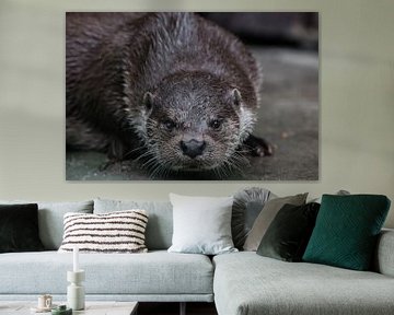
[{"label": "black velvet throw pillow leaning beside the dark green pillow", "polygon": [[285,205],[257,248],[257,254],[286,261],[301,261],[316,222],[320,205]]}]

